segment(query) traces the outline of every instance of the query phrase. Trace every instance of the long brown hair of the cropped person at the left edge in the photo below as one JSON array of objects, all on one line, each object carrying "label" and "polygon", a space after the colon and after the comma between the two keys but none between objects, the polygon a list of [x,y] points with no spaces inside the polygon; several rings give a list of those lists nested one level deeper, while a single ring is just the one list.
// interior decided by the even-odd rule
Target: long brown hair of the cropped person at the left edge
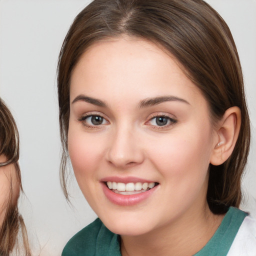
[{"label": "long brown hair of the cropped person at the left edge", "polygon": [[[9,109],[0,98],[0,155],[6,157],[6,161],[0,162],[0,171],[2,166],[13,164],[18,184],[22,190],[20,169],[18,165],[19,157],[19,136],[18,130]],[[12,181],[10,179],[9,197],[6,202],[6,213],[3,223],[0,227],[0,255],[8,256],[18,244],[17,237],[19,229],[21,230],[24,254],[30,256],[30,249],[27,240],[26,228],[21,215],[18,213],[17,202],[12,202]],[[18,250],[18,246],[16,247]]]}]

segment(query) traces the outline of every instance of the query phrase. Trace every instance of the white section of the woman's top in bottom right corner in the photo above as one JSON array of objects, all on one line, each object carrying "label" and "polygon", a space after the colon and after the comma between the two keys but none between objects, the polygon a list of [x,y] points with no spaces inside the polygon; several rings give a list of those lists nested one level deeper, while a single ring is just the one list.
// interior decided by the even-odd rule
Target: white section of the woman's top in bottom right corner
[{"label": "white section of the woman's top in bottom right corner", "polygon": [[256,256],[256,219],[246,216],[242,221],[227,256]]}]

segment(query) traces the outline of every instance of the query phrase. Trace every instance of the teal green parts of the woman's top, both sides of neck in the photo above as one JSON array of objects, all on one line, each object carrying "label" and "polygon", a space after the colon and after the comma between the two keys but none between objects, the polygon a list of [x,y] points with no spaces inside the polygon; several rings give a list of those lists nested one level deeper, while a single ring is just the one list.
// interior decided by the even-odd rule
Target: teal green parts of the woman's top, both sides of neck
[{"label": "teal green parts of the woman's top, both sides of neck", "polygon": [[[216,232],[194,256],[225,256],[246,215],[229,207]],[[119,235],[108,230],[97,218],[67,242],[62,256],[121,256],[119,242]]]}]

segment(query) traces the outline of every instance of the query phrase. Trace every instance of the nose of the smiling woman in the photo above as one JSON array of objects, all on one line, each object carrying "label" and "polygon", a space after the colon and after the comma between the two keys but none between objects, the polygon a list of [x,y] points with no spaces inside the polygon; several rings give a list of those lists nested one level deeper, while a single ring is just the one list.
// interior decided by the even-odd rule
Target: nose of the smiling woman
[{"label": "nose of the smiling woman", "polygon": [[106,158],[114,166],[127,168],[143,162],[141,141],[138,139],[138,134],[128,125],[116,129],[109,140]]}]

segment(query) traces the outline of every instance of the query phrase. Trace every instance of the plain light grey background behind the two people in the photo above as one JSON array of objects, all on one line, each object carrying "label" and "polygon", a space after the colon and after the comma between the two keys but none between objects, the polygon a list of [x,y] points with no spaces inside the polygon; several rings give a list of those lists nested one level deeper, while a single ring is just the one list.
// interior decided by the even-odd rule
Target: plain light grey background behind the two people
[{"label": "plain light grey background behind the two people", "polygon": [[[26,196],[20,211],[33,253],[60,255],[65,242],[95,218],[73,179],[73,207],[59,185],[56,63],[62,40],[87,0],[0,0],[0,96],[20,132],[20,166]],[[237,44],[249,105],[252,146],[243,208],[256,215],[256,1],[207,0],[228,23]]]}]

